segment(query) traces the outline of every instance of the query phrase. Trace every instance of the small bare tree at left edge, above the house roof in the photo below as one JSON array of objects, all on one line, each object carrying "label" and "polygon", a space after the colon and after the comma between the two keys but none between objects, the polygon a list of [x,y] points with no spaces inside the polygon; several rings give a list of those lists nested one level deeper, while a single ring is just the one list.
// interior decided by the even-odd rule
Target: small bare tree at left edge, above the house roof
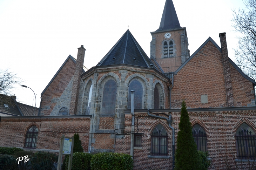
[{"label": "small bare tree at left edge, above the house roof", "polygon": [[11,104],[12,90],[15,89],[16,84],[20,84],[22,81],[17,74],[9,72],[9,69],[0,69],[0,104]]}]

